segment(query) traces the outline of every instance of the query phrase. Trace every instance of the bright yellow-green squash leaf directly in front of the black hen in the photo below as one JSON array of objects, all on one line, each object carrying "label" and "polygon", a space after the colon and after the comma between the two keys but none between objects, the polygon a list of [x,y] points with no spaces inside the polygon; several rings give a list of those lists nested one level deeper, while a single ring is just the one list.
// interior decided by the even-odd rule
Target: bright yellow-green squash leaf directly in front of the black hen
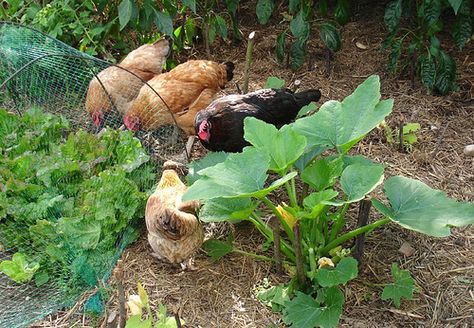
[{"label": "bright yellow-green squash leaf directly in front of the black hen", "polygon": [[254,117],[244,120],[245,140],[270,157],[270,170],[282,173],[296,162],[306,147],[306,138],[289,125],[278,130]]}]

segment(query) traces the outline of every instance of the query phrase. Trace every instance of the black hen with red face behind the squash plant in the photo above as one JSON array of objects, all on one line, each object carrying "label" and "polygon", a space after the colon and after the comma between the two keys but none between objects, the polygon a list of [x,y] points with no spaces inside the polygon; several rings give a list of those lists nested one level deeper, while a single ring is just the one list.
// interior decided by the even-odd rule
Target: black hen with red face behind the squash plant
[{"label": "black hen with red face behind the squash plant", "polygon": [[294,120],[301,107],[320,98],[319,90],[293,93],[288,89],[262,89],[245,95],[229,95],[214,100],[198,112],[194,128],[207,149],[239,152],[249,145],[244,139],[247,116],[279,128]]}]

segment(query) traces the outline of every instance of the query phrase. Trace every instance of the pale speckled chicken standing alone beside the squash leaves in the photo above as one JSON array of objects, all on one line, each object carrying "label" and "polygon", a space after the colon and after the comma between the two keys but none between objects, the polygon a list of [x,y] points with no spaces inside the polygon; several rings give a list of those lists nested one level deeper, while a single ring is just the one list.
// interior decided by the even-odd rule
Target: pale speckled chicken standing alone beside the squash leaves
[{"label": "pale speckled chicken standing alone beside the squash leaves", "polygon": [[182,202],[187,187],[171,167],[165,163],[160,182],[146,204],[148,242],[156,258],[192,269],[192,256],[204,238],[195,215],[199,203]]}]

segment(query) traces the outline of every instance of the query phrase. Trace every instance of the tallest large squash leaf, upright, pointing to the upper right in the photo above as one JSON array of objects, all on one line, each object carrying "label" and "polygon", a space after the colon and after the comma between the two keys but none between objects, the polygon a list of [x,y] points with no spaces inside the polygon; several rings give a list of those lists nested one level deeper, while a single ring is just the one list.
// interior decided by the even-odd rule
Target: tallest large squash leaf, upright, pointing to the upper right
[{"label": "tallest large squash leaf, upright, pointing to the upper right", "polygon": [[380,101],[380,80],[370,76],[342,102],[328,101],[319,111],[294,123],[308,146],[331,146],[346,153],[392,111],[393,100]]}]

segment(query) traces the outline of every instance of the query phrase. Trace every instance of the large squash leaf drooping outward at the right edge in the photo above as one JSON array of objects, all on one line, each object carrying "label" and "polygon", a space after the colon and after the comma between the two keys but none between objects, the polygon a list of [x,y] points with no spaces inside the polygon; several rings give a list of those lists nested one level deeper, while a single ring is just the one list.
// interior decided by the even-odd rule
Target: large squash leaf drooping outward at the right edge
[{"label": "large squash leaf drooping outward at the right edge", "polygon": [[377,210],[401,226],[430,236],[446,237],[451,227],[474,224],[474,204],[448,198],[440,190],[421,181],[402,176],[385,182],[385,194],[391,208],[377,200]]}]

